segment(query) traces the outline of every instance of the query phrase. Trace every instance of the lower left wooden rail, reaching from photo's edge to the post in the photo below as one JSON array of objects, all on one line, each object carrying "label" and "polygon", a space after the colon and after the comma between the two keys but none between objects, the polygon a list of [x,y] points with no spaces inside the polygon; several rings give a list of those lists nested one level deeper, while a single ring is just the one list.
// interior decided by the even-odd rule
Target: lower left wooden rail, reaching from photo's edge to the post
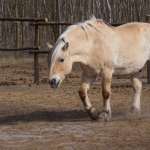
[{"label": "lower left wooden rail, reaching from photo's edge to the post", "polygon": [[40,49],[39,47],[22,47],[22,48],[0,48],[0,51],[24,51],[24,50],[38,50]]}]

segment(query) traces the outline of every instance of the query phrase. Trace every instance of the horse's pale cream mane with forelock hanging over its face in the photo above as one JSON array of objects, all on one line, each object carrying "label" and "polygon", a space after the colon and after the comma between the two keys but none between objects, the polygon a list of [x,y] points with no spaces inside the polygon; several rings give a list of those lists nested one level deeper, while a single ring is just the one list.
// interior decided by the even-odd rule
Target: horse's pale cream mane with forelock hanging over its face
[{"label": "horse's pale cream mane with forelock hanging over its face", "polygon": [[97,28],[95,26],[94,21],[101,22],[102,24],[104,24],[106,26],[112,27],[109,23],[103,21],[102,19],[96,19],[95,16],[92,16],[90,20],[87,20],[85,22],[79,22],[77,24],[69,26],[66,29],[66,31],[58,38],[54,47],[52,48],[52,50],[49,53],[48,57],[50,59],[50,72],[52,71],[56,60],[61,56],[61,52],[62,52],[61,48],[65,45],[64,41],[67,41],[69,43],[69,41],[66,38],[66,36],[69,32],[76,29],[77,27],[82,27],[82,29],[86,32],[87,37],[88,37],[87,29],[89,29],[89,26],[93,27],[95,30],[97,30],[99,32],[102,32],[99,28]]}]

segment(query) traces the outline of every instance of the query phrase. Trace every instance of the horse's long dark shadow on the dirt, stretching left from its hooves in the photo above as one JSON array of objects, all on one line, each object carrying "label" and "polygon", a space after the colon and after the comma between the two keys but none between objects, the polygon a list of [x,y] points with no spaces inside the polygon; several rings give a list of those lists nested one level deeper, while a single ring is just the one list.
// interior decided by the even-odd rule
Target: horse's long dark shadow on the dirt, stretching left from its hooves
[{"label": "horse's long dark shadow on the dirt, stretching left from its hooves", "polygon": [[0,125],[16,124],[17,122],[76,122],[88,121],[90,118],[84,111],[35,111],[28,114],[6,116],[0,118]]}]

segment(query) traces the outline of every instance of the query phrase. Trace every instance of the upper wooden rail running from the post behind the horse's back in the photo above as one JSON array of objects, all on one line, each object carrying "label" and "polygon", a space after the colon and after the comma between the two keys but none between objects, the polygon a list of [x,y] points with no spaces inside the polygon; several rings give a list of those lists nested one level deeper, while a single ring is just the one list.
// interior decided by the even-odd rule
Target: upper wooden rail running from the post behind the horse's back
[{"label": "upper wooden rail running from the post behind the horse's back", "polygon": [[[76,23],[73,23],[73,22],[34,22],[34,23],[30,23],[31,26],[48,26],[48,25],[73,25],[73,24],[76,24]],[[124,22],[120,22],[120,23],[111,23],[110,25],[112,26],[120,26],[120,25],[123,25],[125,24]]]}]

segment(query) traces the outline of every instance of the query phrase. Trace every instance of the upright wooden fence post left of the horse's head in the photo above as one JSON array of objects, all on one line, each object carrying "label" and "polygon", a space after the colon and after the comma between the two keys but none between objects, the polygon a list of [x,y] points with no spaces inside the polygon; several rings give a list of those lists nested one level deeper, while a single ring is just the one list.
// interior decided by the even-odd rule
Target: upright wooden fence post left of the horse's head
[{"label": "upright wooden fence post left of the horse's head", "polygon": [[[36,18],[40,18],[40,13],[36,13]],[[35,41],[34,46],[39,46],[39,27],[35,26]],[[38,62],[38,53],[34,53],[34,83],[39,83],[39,62]]]}]

